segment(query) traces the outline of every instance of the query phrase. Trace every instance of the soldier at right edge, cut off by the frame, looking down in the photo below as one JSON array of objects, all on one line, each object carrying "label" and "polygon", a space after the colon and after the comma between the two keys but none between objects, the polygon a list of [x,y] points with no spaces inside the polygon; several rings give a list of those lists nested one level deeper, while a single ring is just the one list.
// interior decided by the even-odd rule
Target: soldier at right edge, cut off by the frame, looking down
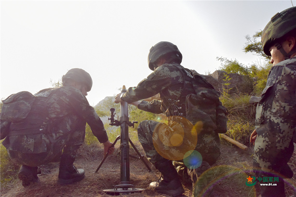
[{"label": "soldier at right edge, cut off by the frame, looking down", "polygon": [[274,15],[262,32],[261,41],[273,67],[257,105],[250,141],[255,144],[257,178],[276,184],[260,185],[261,196],[281,197],[285,196],[283,178],[293,176],[287,162],[294,150],[296,132],[296,7]]}]

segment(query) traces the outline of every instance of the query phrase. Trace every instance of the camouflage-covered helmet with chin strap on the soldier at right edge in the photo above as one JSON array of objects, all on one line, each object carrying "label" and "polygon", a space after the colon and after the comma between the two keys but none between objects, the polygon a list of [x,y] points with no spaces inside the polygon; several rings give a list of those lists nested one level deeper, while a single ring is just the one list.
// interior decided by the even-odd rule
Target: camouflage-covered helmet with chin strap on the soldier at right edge
[{"label": "camouflage-covered helmet with chin strap on the soldier at right edge", "polygon": [[279,44],[279,39],[292,30],[296,29],[296,7],[290,7],[274,15],[268,22],[261,35],[263,51],[271,56],[269,48],[276,44],[276,48],[281,51],[285,59],[295,52],[292,50],[289,54]]}]

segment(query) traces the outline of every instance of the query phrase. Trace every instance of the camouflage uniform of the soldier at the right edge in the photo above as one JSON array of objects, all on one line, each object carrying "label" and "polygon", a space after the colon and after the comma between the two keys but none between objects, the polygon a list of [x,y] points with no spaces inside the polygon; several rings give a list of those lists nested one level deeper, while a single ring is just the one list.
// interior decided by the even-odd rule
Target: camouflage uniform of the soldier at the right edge
[{"label": "camouflage uniform of the soldier at the right edge", "polygon": [[[287,162],[292,156],[296,127],[296,57],[281,61],[269,72],[257,106],[254,167],[257,177],[291,178]],[[279,173],[279,174],[277,174]],[[275,182],[277,183],[277,182]],[[266,196],[285,196],[284,182],[261,188]]]}]

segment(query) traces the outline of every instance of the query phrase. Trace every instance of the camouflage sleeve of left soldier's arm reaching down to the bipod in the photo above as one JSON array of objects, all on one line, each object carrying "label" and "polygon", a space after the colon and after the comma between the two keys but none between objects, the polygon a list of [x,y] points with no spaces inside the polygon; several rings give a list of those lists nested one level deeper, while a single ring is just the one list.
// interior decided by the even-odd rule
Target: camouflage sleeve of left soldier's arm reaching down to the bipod
[{"label": "camouflage sleeve of left soldier's arm reaching down to the bipod", "polygon": [[89,124],[92,133],[100,143],[106,142],[108,140],[107,132],[99,115],[94,108],[89,105],[89,102],[86,97],[82,95],[80,90],[76,88],[73,89],[74,91],[72,91],[69,99],[69,103],[72,105],[73,110]]}]

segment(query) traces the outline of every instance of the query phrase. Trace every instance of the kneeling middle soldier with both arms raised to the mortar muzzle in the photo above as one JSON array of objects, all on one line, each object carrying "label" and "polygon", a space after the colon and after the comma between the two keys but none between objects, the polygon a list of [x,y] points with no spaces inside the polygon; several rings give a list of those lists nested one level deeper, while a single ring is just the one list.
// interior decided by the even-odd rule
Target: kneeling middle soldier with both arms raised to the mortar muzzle
[{"label": "kneeling middle soldier with both arms raised to the mortar muzzle", "polygon": [[[165,113],[168,117],[168,125],[152,120],[142,121],[138,126],[138,137],[147,158],[162,173],[160,180],[152,182],[150,187],[170,196],[184,193],[177,172],[180,168],[176,170],[172,161],[181,161],[187,166],[185,174],[189,175],[194,185],[197,177],[210,168],[220,155],[218,133],[210,126],[202,126],[202,122],[192,123],[187,120],[188,117],[186,119],[186,96],[195,94],[195,90],[192,74],[180,65],[181,61],[182,54],[176,45],[170,42],[157,43],[148,55],[148,66],[153,72],[137,87],[130,87],[126,93],[115,98],[115,103],[123,100],[140,110]],[[161,100],[142,100],[158,93]],[[204,94],[207,95],[207,92]],[[196,167],[183,161],[184,155],[194,150],[200,156],[195,158],[199,160]]]}]

